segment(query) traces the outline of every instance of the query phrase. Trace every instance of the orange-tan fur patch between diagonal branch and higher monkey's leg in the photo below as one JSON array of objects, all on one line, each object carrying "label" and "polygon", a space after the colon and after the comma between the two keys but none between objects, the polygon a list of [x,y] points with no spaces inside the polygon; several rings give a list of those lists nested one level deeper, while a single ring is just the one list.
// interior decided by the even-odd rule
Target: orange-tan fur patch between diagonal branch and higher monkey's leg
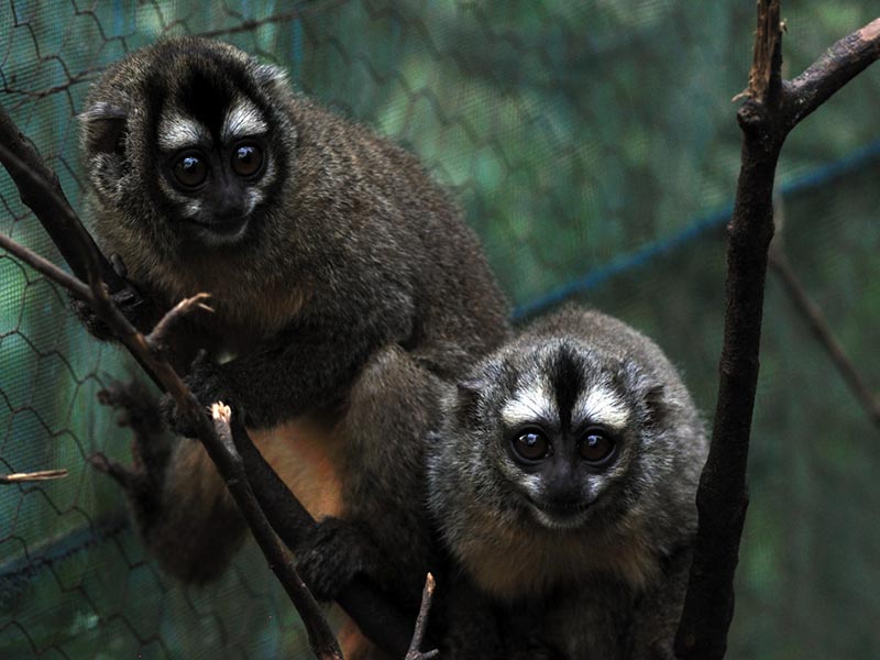
[{"label": "orange-tan fur patch between diagonal branch and higher monkey's leg", "polygon": [[305,419],[249,429],[254,444],[316,519],[342,514],[339,442],[332,430]]}]

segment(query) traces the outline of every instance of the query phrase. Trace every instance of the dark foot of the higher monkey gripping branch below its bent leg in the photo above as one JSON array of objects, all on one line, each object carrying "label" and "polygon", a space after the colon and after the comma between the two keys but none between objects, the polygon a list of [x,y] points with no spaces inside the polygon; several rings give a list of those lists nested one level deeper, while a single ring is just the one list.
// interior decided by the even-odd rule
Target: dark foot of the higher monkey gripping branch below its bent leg
[{"label": "dark foot of the higher monkey gripping branch below its bent leg", "polygon": [[355,575],[375,579],[383,565],[383,558],[365,534],[339,518],[318,522],[295,556],[300,578],[319,601],[334,601]]}]

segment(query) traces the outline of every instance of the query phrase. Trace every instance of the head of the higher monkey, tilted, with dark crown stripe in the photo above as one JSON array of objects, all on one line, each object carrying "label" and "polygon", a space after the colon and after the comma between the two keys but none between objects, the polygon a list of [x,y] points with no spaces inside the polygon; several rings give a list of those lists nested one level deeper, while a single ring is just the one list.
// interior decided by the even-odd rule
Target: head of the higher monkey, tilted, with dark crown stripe
[{"label": "head of the higher monkey, tilted, with dark crown stripe", "polygon": [[253,239],[296,140],[288,96],[277,69],[207,40],[121,61],[84,113],[92,188],[112,218],[101,233],[114,245],[145,242],[163,261]]}]

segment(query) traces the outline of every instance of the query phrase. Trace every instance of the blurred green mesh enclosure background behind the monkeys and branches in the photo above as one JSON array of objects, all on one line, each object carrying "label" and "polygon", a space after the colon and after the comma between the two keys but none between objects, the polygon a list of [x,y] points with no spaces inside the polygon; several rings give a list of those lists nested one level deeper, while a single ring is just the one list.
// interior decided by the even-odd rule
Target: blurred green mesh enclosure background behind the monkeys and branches
[{"label": "blurred green mesh enclosure background behind the monkeys and branches", "polygon": [[[869,0],[785,0],[796,75],[875,18]],[[79,208],[76,113],[108,63],[207,34],[282,64],[305,92],[418,153],[482,235],[520,318],[562,300],[653,336],[707,418],[724,224],[755,3],[744,0],[317,2],[10,0],[0,102]],[[778,182],[793,268],[880,387],[880,67],[807,119]],[[57,251],[0,175],[0,231]],[[730,658],[880,658],[880,433],[768,280]],[[86,459],[129,439],[96,404],[133,373],[66,296],[0,254],[0,658],[308,657],[249,548],[215,585],[163,576],[121,493]]]}]

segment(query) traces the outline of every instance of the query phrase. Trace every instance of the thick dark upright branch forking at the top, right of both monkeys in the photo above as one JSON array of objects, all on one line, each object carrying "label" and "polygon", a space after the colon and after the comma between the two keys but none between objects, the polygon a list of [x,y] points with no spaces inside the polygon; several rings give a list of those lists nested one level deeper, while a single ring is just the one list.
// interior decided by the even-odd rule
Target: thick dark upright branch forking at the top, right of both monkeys
[{"label": "thick dark upright branch forking at the top, right of both monkeys", "polygon": [[682,659],[723,658],[733,619],[733,581],[748,506],[746,463],[779,153],[801,119],[880,55],[875,21],[838,42],[794,82],[777,86],[782,64],[779,15],[779,0],[759,0],[755,61],[745,94],[749,98],[737,113],[743,129],[743,163],[728,227],[718,399],[710,454],[696,495],[700,525],[694,560],[675,636],[675,653]]}]

